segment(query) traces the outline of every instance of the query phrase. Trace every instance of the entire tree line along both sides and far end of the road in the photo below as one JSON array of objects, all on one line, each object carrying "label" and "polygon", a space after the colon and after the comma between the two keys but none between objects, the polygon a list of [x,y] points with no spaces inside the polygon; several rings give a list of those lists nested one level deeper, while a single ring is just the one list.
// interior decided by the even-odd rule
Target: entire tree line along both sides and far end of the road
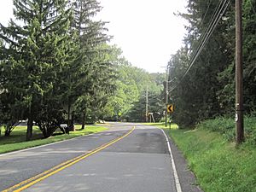
[{"label": "entire tree line along both sides and far end of the road", "polygon": [[[230,5],[189,73],[189,61],[221,1],[189,0],[183,47],[169,64],[169,102],[179,125],[195,125],[235,113],[235,5]],[[0,119],[9,135],[27,119],[44,137],[61,123],[76,119],[144,121],[148,112],[160,119],[165,110],[166,77],[132,67],[121,49],[108,45],[107,22],[96,20],[96,0],[14,1],[15,20],[0,24]],[[255,0],[243,2],[245,112],[255,113]],[[175,88],[175,89],[173,89]]]}]

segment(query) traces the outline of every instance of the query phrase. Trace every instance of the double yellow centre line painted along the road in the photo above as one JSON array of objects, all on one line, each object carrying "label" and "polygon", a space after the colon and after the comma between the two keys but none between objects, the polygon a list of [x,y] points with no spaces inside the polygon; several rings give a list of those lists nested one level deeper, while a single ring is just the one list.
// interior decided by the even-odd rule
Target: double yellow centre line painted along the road
[{"label": "double yellow centre line painted along the road", "polygon": [[124,137],[127,137],[134,130],[135,130],[135,126],[130,131],[125,133],[125,135],[123,135],[122,137],[115,138],[112,141],[110,141],[109,143],[102,144],[98,148],[95,148],[86,154],[81,154],[78,157],[73,158],[72,160],[67,160],[66,162],[63,162],[60,165],[55,166],[45,172],[42,172],[35,177],[28,178],[25,181],[15,184],[14,186],[10,187],[9,189],[4,189],[2,192],[9,192],[9,191],[19,192],[24,189],[27,189],[27,188],[31,187],[33,184],[38,183],[38,182],[44,180],[45,178],[47,178],[51,175],[54,175],[57,172],[61,172],[61,170],[63,170],[63,169],[66,169],[69,166],[73,166],[74,164],[78,163],[80,160],[84,160],[85,158],[89,157],[90,155],[96,154],[96,153],[102,151],[104,148],[108,148],[110,145],[113,145],[113,143],[119,142],[119,140],[123,139]]}]

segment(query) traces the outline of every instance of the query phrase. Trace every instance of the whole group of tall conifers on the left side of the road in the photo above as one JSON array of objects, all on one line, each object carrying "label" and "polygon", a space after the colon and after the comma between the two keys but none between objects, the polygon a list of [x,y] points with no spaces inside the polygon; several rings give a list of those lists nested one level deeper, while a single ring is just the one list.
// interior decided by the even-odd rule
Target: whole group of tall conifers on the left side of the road
[{"label": "whole group of tall conifers on the left side of the road", "polygon": [[[27,119],[53,134],[71,113],[84,123],[113,94],[116,72],[96,0],[14,0],[15,20],[0,24],[0,119],[9,136]],[[75,110],[73,109],[75,108]]]}]

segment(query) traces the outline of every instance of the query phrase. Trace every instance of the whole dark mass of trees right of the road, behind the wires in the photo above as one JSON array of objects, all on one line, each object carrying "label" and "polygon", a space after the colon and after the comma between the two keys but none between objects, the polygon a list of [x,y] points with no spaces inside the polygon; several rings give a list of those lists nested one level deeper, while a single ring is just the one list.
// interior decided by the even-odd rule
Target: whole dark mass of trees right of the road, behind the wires
[{"label": "whole dark mass of trees right of the road, behind the wires", "polygon": [[[169,79],[170,102],[174,103],[173,118],[179,125],[195,125],[203,119],[231,116],[235,119],[235,3],[230,2],[225,14],[201,50],[189,73],[184,75],[195,54],[196,45],[214,18],[222,1],[189,0],[187,13],[179,16],[187,20],[187,35],[183,47],[172,55]],[[255,114],[256,107],[256,1],[242,3],[243,22],[243,84],[245,113]],[[175,89],[172,89],[174,88]]]}]

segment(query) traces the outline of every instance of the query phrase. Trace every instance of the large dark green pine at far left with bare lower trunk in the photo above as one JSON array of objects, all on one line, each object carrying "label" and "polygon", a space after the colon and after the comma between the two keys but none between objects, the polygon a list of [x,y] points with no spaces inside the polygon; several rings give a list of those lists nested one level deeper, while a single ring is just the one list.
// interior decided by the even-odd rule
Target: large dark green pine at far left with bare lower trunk
[{"label": "large dark green pine at far left with bare lower trunk", "polygon": [[[6,44],[4,70],[9,74],[6,89],[22,97],[26,106],[26,139],[41,113],[45,96],[54,96],[58,73],[67,64],[68,27],[71,10],[66,0],[14,0],[15,19],[1,25]],[[47,105],[47,103],[46,103]]]}]

